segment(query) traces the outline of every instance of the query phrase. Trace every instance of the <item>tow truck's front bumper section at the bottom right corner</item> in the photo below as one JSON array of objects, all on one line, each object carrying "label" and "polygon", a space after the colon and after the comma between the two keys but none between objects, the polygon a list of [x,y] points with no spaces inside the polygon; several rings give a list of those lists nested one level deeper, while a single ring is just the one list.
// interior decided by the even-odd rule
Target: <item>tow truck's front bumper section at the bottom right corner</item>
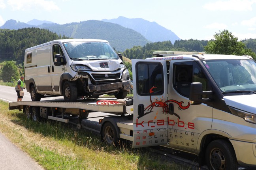
[{"label": "tow truck's front bumper section at the bottom right corner", "polygon": [[256,143],[230,140],[237,162],[242,166],[256,166]]}]

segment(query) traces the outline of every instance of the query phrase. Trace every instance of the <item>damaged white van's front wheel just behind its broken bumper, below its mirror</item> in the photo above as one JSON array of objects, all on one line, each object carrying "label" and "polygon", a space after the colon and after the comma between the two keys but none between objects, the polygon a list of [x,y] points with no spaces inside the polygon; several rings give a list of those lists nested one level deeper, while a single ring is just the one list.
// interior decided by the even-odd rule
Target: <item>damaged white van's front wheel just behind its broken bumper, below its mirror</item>
[{"label": "damaged white van's front wheel just behind its broken bumper, below its mirror", "polygon": [[77,100],[77,88],[72,82],[65,82],[63,86],[63,96],[65,101]]}]

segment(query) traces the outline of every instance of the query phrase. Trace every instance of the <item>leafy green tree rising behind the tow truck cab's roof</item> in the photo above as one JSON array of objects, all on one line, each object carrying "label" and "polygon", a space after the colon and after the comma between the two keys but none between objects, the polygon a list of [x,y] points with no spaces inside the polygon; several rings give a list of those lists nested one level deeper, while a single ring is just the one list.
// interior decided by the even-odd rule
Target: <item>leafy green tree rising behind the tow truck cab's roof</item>
[{"label": "leafy green tree rising behind the tow truck cab's roof", "polygon": [[227,55],[250,55],[256,58],[256,54],[251,49],[247,49],[245,44],[238,41],[231,32],[224,30],[214,35],[215,40],[211,40],[205,46],[208,54],[227,54]]}]

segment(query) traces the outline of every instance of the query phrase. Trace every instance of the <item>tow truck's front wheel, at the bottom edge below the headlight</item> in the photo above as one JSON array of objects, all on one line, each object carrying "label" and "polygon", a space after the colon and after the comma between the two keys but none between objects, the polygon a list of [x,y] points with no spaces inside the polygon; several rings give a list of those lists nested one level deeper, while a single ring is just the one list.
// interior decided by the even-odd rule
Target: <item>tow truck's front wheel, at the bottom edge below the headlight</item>
[{"label": "tow truck's front wheel, at the bottom edge below the headlight", "polygon": [[209,170],[238,170],[239,166],[232,144],[214,140],[206,149],[205,159]]}]

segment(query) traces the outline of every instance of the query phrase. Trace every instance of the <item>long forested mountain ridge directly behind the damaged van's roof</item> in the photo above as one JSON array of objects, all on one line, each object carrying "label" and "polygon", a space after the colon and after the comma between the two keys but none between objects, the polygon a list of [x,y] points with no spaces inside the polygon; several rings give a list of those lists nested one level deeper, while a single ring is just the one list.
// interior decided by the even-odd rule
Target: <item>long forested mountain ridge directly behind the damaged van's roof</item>
[{"label": "long forested mountain ridge directly behind the damaged van's roof", "polygon": [[88,20],[83,22],[73,22],[70,24],[49,24],[30,25],[24,22],[16,22],[15,20],[6,21],[1,29],[17,30],[20,28],[36,27],[47,29],[58,35],[65,35],[71,38],[91,38],[105,39],[109,41],[112,47],[117,51],[123,52],[134,46],[144,46],[151,41],[147,40],[143,35],[130,29],[124,28],[119,24],[111,22],[103,22],[97,20]]}]

